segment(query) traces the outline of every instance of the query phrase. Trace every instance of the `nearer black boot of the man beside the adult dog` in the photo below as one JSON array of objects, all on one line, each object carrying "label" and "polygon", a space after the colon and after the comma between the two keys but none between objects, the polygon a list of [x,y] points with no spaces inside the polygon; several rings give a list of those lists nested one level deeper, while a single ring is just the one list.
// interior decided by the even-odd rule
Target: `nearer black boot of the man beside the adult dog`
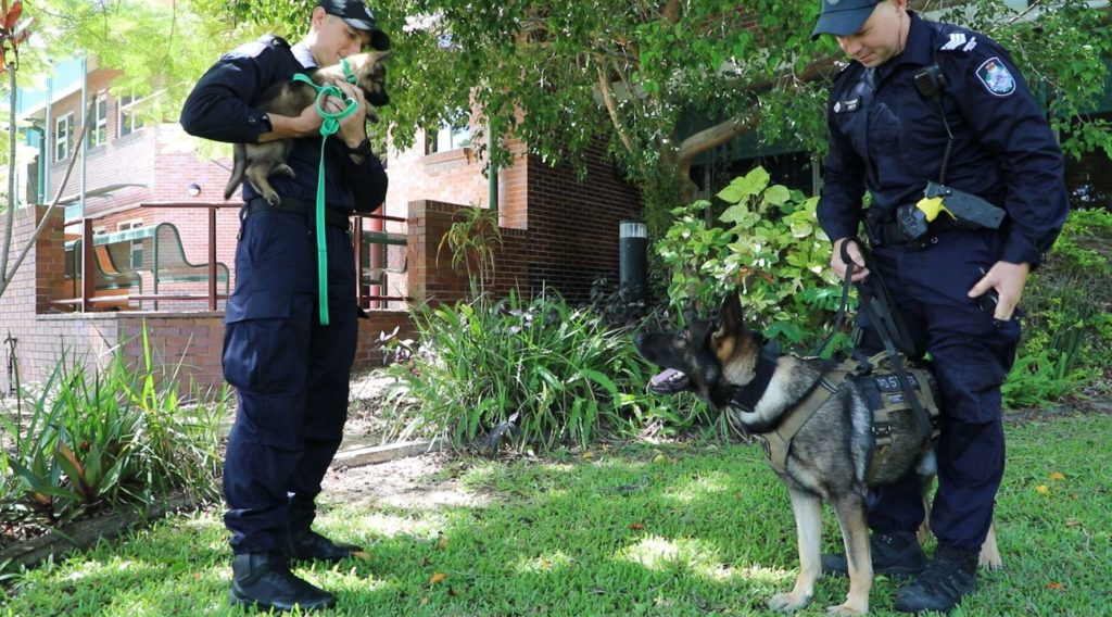
[{"label": "nearer black boot of the man beside the adult dog", "polygon": [[962,550],[939,545],[934,560],[896,595],[896,610],[950,613],[962,596],[976,590],[976,561],[980,550]]}]

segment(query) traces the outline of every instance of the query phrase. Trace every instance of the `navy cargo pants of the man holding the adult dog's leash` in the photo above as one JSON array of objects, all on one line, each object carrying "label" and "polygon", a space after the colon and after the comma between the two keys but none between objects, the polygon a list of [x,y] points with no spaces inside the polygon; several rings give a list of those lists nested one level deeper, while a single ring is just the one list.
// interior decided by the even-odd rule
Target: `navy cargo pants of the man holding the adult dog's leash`
[{"label": "navy cargo pants of the man holding the adult dog's leash", "polygon": [[[873,249],[873,268],[898,306],[916,348],[931,355],[942,394],[939,490],[931,529],[940,544],[966,550],[984,543],[1004,475],[1000,387],[1020,338],[1015,319],[995,324],[966,293],[997,261],[1003,240],[1003,233],[995,231],[950,230],[923,249],[910,245]],[[870,527],[915,530],[925,514],[921,499],[914,469],[892,485],[871,489]]]}]

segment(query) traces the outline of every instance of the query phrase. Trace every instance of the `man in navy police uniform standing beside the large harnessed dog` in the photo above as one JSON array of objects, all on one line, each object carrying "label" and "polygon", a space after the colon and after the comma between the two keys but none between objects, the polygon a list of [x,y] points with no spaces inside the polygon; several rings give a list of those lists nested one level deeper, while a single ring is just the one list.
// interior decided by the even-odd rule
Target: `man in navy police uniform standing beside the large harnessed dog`
[{"label": "man in navy police uniform standing beside the large harnessed dog", "polygon": [[[813,38],[821,34],[851,58],[831,89],[817,210],[834,242],[831,267],[845,275],[848,242],[854,280],[870,276],[852,241],[864,223],[870,262],[916,349],[930,352],[943,398],[934,558],[927,565],[915,541],[924,508],[911,471],[868,495],[873,568],[917,573],[900,590],[900,610],[950,610],[976,587],[1004,472],[1001,384],[1020,337],[1015,307],[1069,209],[1062,152],[1011,56],[984,34],[926,21],[906,0],[823,0]],[[920,219],[925,230],[901,225],[929,181],[1006,217],[996,229],[945,213]],[[844,573],[845,557],[824,556],[823,567]]]}]

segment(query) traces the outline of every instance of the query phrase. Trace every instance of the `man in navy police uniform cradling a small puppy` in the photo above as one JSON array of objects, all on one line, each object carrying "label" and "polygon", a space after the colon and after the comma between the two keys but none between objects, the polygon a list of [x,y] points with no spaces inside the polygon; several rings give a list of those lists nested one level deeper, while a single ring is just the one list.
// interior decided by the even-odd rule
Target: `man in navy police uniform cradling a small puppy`
[{"label": "man in navy police uniform cradling a small puppy", "polygon": [[[187,132],[225,142],[297,138],[289,157],[296,177],[271,177],[281,205],[271,207],[244,185],[236,289],[225,316],[224,374],[239,395],[228,438],[225,524],[231,531],[235,605],[302,610],[336,598],[295,576],[290,559],[336,561],[359,550],[310,529],[320,481],[342,437],[355,359],[358,307],[348,215],[369,212],[386,197],[387,178],[367,140],[364,94],[339,121],[324,152],[328,325],[318,316],[316,193],[321,117],[310,106],[297,118],[254,107],[269,86],[311,67],[335,64],[365,48],[385,50],[361,0],[319,0],[309,31],[290,47],[268,36],[225,54],[185,103]],[[338,97],[322,105],[338,112]]]}]

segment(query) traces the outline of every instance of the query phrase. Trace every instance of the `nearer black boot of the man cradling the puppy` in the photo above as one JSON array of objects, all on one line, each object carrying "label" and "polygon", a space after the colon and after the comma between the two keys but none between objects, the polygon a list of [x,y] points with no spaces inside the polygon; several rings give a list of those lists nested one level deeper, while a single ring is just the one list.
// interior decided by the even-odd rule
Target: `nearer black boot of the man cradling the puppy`
[{"label": "nearer black boot of the man cradling the puppy", "polygon": [[284,611],[298,606],[307,613],[336,606],[336,596],[296,577],[281,555],[249,553],[236,555],[231,561],[228,601]]}]

